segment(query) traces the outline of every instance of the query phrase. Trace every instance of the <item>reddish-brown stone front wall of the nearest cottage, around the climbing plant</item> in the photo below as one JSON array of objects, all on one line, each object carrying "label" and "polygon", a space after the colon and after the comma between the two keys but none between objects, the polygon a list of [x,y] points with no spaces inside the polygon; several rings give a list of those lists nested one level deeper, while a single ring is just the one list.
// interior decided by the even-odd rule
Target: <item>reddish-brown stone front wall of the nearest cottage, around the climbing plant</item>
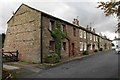
[{"label": "reddish-brown stone front wall of the nearest cottage, around the climbing plant", "polygon": [[[42,40],[43,40],[43,60],[46,58],[47,54],[49,53],[49,42],[50,40],[54,40],[50,34],[50,32],[48,31],[49,29],[49,22],[50,20],[54,21],[54,25],[56,27],[56,20],[53,17],[50,16],[42,16],[42,27],[43,27],[43,36],[42,36]],[[62,58],[68,58],[69,56],[75,56],[78,55],[79,49],[80,49],[80,45],[79,43],[79,29],[76,28],[76,36],[73,36],[73,27],[72,25],[63,22],[60,20],[60,22],[62,24],[64,24],[66,26],[66,32],[67,32],[67,37],[68,39],[64,39],[63,42],[66,42],[66,51],[61,50],[61,55]],[[70,41],[70,42],[69,42]],[[72,43],[74,43],[74,55],[72,55]]]}]

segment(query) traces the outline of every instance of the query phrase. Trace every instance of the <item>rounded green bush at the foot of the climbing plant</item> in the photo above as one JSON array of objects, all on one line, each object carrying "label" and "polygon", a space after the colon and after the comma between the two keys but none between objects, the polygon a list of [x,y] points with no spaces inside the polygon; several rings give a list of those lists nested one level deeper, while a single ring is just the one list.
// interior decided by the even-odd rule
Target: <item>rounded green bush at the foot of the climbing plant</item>
[{"label": "rounded green bush at the foot of the climbing plant", "polygon": [[57,63],[59,62],[60,57],[56,53],[49,53],[46,57],[47,63]]}]

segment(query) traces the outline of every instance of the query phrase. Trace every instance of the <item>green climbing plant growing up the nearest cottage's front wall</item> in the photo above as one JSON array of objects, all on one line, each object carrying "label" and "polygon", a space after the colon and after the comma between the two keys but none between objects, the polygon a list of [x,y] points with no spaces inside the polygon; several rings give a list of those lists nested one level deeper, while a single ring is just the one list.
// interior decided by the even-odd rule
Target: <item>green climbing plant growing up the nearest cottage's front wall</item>
[{"label": "green climbing plant growing up the nearest cottage's front wall", "polygon": [[[48,29],[49,30],[49,29]],[[61,57],[61,43],[62,40],[66,37],[66,33],[61,31],[61,23],[60,21],[56,21],[56,28],[54,31],[49,30],[51,36],[55,40],[55,53]]]}]

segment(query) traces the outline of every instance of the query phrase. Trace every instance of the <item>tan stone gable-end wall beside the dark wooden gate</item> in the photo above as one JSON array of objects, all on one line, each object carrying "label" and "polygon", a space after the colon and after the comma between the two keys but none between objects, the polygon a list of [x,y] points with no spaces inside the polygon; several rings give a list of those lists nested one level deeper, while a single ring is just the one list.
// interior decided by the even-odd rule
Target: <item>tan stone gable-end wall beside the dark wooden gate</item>
[{"label": "tan stone gable-end wall beside the dark wooden gate", "polygon": [[19,60],[40,62],[41,13],[22,5],[8,22],[4,51],[19,52]]}]

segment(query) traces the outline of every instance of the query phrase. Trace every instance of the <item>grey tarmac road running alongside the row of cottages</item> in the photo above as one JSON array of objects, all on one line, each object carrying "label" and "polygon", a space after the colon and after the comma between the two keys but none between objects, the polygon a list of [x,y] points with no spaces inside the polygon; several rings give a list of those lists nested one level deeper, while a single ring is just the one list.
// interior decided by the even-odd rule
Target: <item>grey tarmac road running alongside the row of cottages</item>
[{"label": "grey tarmac road running alongside the row of cottages", "polygon": [[[120,55],[119,55],[120,56]],[[115,51],[97,52],[79,60],[45,70],[26,78],[117,78],[118,54]]]}]

